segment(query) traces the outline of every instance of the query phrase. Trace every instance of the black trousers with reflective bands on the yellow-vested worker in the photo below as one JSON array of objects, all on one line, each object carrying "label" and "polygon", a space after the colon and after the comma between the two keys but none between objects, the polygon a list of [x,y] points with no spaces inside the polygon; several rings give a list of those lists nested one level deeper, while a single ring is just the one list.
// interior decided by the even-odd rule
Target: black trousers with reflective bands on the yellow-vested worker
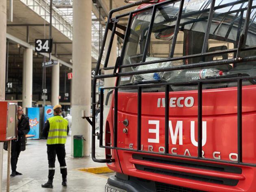
[{"label": "black trousers with reflective bands on the yellow-vested worker", "polygon": [[65,161],[66,151],[64,144],[47,145],[49,174],[48,179],[53,180],[55,173],[56,155],[61,168],[62,179],[67,179],[67,165]]}]

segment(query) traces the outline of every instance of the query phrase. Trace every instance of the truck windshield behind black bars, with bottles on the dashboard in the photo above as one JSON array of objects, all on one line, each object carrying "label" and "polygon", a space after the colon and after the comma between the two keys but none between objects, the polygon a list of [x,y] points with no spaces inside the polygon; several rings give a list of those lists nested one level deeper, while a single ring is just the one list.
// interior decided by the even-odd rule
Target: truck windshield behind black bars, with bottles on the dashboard
[{"label": "truck windshield behind black bars, with bottles on the dashboard", "polygon": [[[256,0],[253,1],[252,11],[250,13],[249,30],[245,42],[246,47],[256,45],[256,24],[254,22],[256,17],[255,5]],[[210,6],[210,0],[185,0],[173,57],[202,53]],[[245,23],[247,6],[248,2],[245,0],[234,0],[232,2],[230,0],[215,1],[213,19],[209,26],[210,33],[208,42],[206,41],[208,43],[206,52],[219,51],[218,54],[137,67],[126,67],[122,68],[122,72],[236,58],[236,52],[230,51],[229,53],[221,53],[220,51],[232,50],[238,46],[239,37]],[[173,46],[174,28],[176,26],[179,7],[180,1],[158,7],[151,31],[149,31],[149,28],[152,10],[133,16],[130,32],[128,34],[128,42],[126,47],[124,47],[124,60],[122,61],[122,65],[130,65],[143,61],[143,52],[149,32],[151,34],[149,37],[148,50],[146,50],[147,55],[145,62],[169,58],[171,47]],[[256,50],[245,50],[240,54],[241,57],[251,55],[256,55]],[[256,63],[244,62],[197,69],[125,76],[119,79],[119,85],[152,80],[163,80],[166,82],[193,81],[212,76],[225,76],[237,73],[245,73],[250,76],[256,75]]]}]

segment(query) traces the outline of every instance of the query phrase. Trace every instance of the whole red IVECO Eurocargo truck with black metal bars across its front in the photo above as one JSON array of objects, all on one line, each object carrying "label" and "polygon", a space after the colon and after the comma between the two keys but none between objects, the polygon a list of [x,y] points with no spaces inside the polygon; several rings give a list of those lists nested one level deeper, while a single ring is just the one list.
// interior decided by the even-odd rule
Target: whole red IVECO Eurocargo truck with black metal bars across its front
[{"label": "whole red IVECO Eurocargo truck with black metal bars across its front", "polygon": [[[95,74],[104,47],[103,69],[113,73],[93,78],[91,122],[92,158],[116,172],[106,192],[256,191],[255,18],[256,0],[140,0],[111,10]],[[123,47],[109,67],[115,35]],[[116,84],[100,91],[95,133],[96,82],[106,78]],[[96,137],[106,159],[95,157]]]}]

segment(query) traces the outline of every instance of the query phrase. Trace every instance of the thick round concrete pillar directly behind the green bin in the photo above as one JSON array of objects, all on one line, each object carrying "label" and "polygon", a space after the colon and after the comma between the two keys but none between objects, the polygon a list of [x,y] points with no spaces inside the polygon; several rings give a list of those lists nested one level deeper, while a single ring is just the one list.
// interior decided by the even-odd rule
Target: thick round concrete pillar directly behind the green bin
[{"label": "thick round concrete pillar directly behind the green bin", "polygon": [[[84,156],[90,155],[91,125],[81,118],[91,111],[91,3],[73,0],[72,138],[83,135]],[[73,139],[72,139],[73,155]]]}]

